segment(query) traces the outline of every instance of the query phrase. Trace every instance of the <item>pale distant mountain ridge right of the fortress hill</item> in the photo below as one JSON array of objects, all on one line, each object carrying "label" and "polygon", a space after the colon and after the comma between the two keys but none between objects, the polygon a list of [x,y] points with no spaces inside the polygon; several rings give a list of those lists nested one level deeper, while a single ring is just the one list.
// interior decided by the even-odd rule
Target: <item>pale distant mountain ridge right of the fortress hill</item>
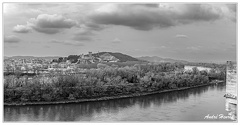
[{"label": "pale distant mountain ridge right of the fortress hill", "polygon": [[161,58],[158,56],[142,56],[138,57],[139,60],[145,60],[149,62],[182,62],[182,63],[188,63],[188,61],[185,60],[176,60],[171,58]]}]

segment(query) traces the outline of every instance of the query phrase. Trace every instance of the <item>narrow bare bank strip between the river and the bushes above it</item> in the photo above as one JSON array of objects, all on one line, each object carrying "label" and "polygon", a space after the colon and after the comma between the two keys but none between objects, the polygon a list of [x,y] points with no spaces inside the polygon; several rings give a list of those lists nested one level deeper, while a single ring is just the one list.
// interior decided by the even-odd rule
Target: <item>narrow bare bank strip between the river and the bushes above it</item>
[{"label": "narrow bare bank strip between the river and the bushes above it", "polygon": [[177,89],[169,89],[169,90],[161,90],[155,92],[146,92],[146,93],[135,93],[130,95],[120,95],[120,96],[111,96],[111,97],[100,97],[94,99],[77,99],[77,100],[65,100],[65,101],[44,101],[44,102],[21,102],[21,103],[4,103],[4,106],[20,106],[20,105],[53,105],[53,104],[68,104],[68,103],[80,103],[80,102],[91,102],[91,101],[104,101],[104,100],[112,100],[112,99],[121,99],[121,98],[131,98],[131,97],[138,97],[138,96],[145,96],[151,94],[159,94],[159,93],[166,93],[166,92],[173,92],[173,91],[182,91],[191,88],[197,88],[202,86],[214,85],[215,83],[208,83],[202,85],[196,85],[191,87],[182,87]]}]

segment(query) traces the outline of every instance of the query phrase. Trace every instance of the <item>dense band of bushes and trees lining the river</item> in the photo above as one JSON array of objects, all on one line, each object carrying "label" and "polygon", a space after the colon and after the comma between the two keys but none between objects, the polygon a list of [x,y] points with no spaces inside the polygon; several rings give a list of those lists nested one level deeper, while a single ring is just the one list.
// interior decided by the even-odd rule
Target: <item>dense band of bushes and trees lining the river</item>
[{"label": "dense band of bushes and trees lining the river", "polygon": [[119,97],[210,84],[224,80],[225,71],[184,71],[178,63],[136,64],[86,69],[80,74],[50,73],[4,78],[4,104],[28,104]]}]

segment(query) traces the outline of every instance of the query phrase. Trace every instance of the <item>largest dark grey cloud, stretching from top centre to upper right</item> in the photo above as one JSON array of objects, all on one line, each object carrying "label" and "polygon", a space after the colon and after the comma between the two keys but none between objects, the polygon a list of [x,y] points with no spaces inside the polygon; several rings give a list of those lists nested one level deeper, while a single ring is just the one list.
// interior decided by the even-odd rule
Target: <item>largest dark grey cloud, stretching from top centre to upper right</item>
[{"label": "largest dark grey cloud, stretching from top centre to upper right", "polygon": [[109,11],[96,11],[89,18],[97,24],[129,26],[137,30],[167,28],[221,18],[221,10],[207,4],[179,6],[117,4]]}]

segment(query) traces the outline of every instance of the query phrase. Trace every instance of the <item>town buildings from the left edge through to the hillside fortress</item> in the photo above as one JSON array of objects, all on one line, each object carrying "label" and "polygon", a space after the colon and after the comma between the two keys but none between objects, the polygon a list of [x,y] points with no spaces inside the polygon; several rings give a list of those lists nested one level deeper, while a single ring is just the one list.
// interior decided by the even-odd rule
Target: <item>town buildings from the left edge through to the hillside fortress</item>
[{"label": "town buildings from the left edge through to the hillside fortress", "polygon": [[[56,59],[55,59],[56,60]],[[49,72],[50,70],[73,70],[77,68],[78,64],[91,64],[91,63],[102,63],[102,62],[118,62],[120,61],[116,57],[109,53],[102,55],[93,56],[92,52],[87,55],[80,55],[78,61],[72,63],[71,60],[62,62],[54,62],[53,59],[4,59],[4,72],[15,72],[21,71],[23,73],[36,73],[37,72]]]}]

